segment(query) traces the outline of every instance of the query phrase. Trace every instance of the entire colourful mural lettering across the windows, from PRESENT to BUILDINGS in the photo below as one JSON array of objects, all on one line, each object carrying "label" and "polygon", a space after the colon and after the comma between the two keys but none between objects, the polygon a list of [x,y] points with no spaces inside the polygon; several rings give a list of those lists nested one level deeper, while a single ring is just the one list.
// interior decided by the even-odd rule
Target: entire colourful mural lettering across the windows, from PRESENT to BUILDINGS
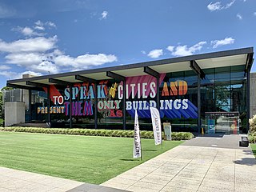
[{"label": "entire colourful mural lettering across the windows, from PRESENT to BUILDINGS", "polygon": [[[188,91],[186,81],[163,82],[166,74],[161,74],[159,83],[162,85],[160,93],[160,116],[161,118],[197,118],[197,107],[189,99],[184,98]],[[156,107],[157,81],[150,75],[126,78],[126,93],[123,92],[123,82],[109,81],[94,83],[77,83],[72,87],[66,87],[63,95],[50,86],[50,98],[54,103],[48,110],[47,107],[38,107],[38,114],[66,114],[73,116],[94,115],[94,99],[98,98],[98,112],[103,118],[121,118],[122,98],[126,97],[126,111],[134,117],[135,110],[140,118],[150,118],[150,107]],[[179,98],[173,99],[179,96]],[[183,98],[182,98],[183,97]],[[70,103],[71,98],[71,103]]]}]

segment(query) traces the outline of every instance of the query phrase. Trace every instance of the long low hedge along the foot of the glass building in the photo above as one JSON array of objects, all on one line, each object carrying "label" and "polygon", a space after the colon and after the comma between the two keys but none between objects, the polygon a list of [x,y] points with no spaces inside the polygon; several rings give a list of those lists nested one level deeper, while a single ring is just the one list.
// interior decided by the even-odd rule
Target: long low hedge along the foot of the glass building
[{"label": "long low hedge along the foot of the glass building", "polygon": [[[40,134],[76,134],[88,136],[133,138],[134,130],[89,130],[89,129],[62,129],[62,128],[38,128],[38,127],[0,127],[0,131],[27,132]],[[153,131],[141,130],[141,138],[154,138]],[[163,133],[162,133],[163,137]],[[172,132],[172,140],[189,140],[194,134],[189,132]]]}]

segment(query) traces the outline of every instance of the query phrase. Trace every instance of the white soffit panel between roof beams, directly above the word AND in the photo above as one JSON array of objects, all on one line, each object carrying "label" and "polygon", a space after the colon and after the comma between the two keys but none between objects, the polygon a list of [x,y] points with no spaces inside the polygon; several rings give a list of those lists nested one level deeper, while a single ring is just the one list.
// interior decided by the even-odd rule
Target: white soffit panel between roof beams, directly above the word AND
[{"label": "white soffit panel between roof beams, directly above the word AND", "polygon": [[165,65],[150,66],[150,68],[157,71],[159,74],[191,70],[190,62],[174,62]]}]

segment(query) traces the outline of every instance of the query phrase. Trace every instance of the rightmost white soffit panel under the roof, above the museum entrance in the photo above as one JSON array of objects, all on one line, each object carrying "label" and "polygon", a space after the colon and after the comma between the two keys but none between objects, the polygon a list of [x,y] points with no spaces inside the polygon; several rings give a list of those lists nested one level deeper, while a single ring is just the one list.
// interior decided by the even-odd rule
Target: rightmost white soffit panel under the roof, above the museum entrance
[{"label": "rightmost white soffit panel under the roof, above the museum entrance", "polygon": [[246,64],[247,54],[239,54],[234,56],[227,56],[222,58],[206,58],[196,60],[198,66],[203,69],[209,69],[222,66],[241,66]]}]

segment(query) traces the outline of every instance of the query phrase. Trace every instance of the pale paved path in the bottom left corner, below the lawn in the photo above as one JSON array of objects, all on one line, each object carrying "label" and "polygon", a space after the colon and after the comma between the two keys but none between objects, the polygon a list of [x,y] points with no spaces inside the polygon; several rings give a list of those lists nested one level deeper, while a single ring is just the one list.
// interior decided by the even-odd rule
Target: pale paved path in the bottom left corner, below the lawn
[{"label": "pale paved path in the bottom left corner, below the lawn", "polygon": [[0,192],[122,192],[110,187],[0,167]]}]

